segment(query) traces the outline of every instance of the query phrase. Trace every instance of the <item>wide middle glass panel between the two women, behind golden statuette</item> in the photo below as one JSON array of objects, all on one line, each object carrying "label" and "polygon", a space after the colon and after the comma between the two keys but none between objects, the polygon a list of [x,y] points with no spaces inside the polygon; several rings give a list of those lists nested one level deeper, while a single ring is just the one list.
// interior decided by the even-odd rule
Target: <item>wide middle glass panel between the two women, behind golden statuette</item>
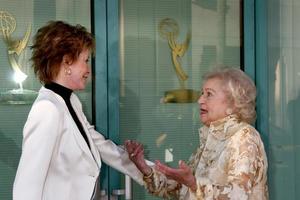
[{"label": "wide middle glass panel between the two women, behind golden statuette", "polygon": [[[119,3],[121,141],[138,140],[148,159],[175,167],[199,145],[198,105],[182,93],[198,92],[216,64],[241,66],[241,1]],[[133,199],[154,197],[134,184]]]}]

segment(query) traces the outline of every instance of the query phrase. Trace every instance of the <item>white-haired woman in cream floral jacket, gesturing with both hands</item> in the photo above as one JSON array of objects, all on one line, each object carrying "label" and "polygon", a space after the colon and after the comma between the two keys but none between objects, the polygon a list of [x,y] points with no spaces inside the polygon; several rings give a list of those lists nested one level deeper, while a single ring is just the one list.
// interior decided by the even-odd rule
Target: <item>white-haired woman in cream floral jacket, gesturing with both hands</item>
[{"label": "white-haired woman in cream floral jacket, gesturing with both hands", "polygon": [[177,169],[159,161],[148,166],[143,146],[126,141],[146,189],[166,199],[266,200],[267,157],[257,130],[256,88],[240,69],[218,68],[204,77],[198,100],[200,146]]}]

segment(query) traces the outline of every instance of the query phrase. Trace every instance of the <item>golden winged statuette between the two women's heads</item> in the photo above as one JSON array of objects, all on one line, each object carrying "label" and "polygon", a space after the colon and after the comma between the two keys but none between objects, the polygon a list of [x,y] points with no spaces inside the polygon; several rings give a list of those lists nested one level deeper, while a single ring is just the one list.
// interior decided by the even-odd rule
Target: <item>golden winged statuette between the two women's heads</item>
[{"label": "golden winged statuette between the two women's heads", "polygon": [[164,103],[193,103],[199,98],[199,92],[186,89],[185,81],[188,79],[188,75],[181,67],[180,59],[185,54],[189,47],[191,40],[191,33],[188,32],[185,41],[182,44],[176,42],[176,38],[179,34],[179,27],[177,22],[172,18],[165,18],[159,23],[160,35],[168,40],[169,47],[172,54],[172,63],[179,80],[180,88],[175,90],[169,90],[165,92],[163,97]]}]

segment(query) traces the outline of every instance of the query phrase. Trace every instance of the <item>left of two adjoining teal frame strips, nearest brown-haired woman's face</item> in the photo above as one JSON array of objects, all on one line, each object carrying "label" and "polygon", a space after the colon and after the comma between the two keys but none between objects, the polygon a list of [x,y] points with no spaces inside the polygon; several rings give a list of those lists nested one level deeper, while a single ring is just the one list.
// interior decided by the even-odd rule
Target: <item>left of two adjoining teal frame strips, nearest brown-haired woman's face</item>
[{"label": "left of two adjoining teal frame strips, nearest brown-haired woman's face", "polygon": [[[107,2],[106,0],[93,0],[92,3],[94,9],[94,34],[96,39],[93,67],[94,123],[96,130],[108,138]],[[109,189],[109,168],[104,163],[101,167],[100,176],[100,187],[107,193]]]}]

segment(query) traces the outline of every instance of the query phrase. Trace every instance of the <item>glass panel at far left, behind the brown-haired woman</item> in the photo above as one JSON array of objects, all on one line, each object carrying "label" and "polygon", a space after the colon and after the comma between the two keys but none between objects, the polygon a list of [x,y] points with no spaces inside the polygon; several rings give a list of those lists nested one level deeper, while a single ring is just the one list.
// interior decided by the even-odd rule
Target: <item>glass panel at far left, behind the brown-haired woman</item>
[{"label": "glass panel at far left, behind the brown-haired woman", "polygon": [[[18,167],[22,148],[22,129],[31,108],[34,96],[12,93],[20,89],[13,80],[12,62],[16,61],[22,72],[27,74],[22,87],[37,92],[41,87],[31,68],[29,46],[37,29],[49,20],[64,20],[72,24],[91,27],[89,0],[1,0],[0,9],[0,199],[12,199],[12,185]],[[14,29],[15,23],[15,29]],[[30,32],[31,27],[31,32]],[[29,40],[20,55],[13,54],[9,60],[8,44],[4,41],[3,30],[9,32],[10,40]],[[15,90],[13,90],[15,89]],[[18,90],[19,91],[19,90]],[[8,93],[10,92],[10,93]],[[13,96],[14,95],[14,96]],[[92,87],[79,93],[87,117],[92,117]],[[9,101],[7,100],[9,98]],[[21,100],[26,101],[21,101]]]}]

